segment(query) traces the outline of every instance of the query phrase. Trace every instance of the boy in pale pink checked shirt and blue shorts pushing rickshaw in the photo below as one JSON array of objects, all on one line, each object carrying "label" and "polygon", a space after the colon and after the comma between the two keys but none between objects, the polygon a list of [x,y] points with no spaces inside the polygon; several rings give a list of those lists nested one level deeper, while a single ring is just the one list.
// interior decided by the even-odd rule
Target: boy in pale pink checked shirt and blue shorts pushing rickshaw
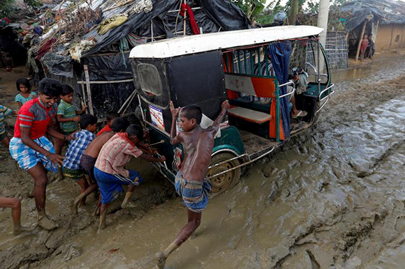
[{"label": "boy in pale pink checked shirt and blue shorts pushing rickshaw", "polygon": [[164,156],[156,158],[143,153],[136,146],[142,138],[142,127],[133,124],[129,125],[126,132],[115,134],[101,148],[96,165],[94,166],[94,176],[96,176],[101,192],[100,225],[98,226],[98,231],[101,231],[105,226],[108,204],[115,199],[117,192],[123,192],[121,185],[129,185],[124,201],[121,204],[122,208],[126,208],[135,186],[142,182],[142,178],[137,171],[124,168],[131,160],[131,157],[141,157],[149,162],[165,161]]}]

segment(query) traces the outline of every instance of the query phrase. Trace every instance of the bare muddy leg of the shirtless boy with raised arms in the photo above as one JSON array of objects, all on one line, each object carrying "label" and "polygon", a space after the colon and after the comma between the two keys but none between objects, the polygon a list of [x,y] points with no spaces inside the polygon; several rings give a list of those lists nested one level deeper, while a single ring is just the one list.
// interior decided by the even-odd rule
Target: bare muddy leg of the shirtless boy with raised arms
[{"label": "bare muddy leg of the shirtless boy with raised arms", "polygon": [[156,267],[163,269],[165,267],[166,259],[168,256],[177,249],[184,241],[186,241],[191,234],[200,226],[201,223],[201,213],[195,213],[187,209],[188,222],[186,226],[180,231],[177,239],[173,241],[163,252],[159,252],[156,257],[158,259]]}]

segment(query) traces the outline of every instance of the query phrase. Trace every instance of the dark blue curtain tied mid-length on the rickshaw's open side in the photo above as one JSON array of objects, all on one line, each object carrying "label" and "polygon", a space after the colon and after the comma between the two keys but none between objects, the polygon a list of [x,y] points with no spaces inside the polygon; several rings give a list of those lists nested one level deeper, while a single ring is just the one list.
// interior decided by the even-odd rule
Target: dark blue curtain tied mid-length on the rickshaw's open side
[{"label": "dark blue curtain tied mid-length on the rickshaw's open side", "polygon": [[[291,43],[272,43],[269,45],[269,52],[279,84],[288,82],[288,72],[290,68]],[[280,95],[287,93],[287,86],[279,89]],[[288,97],[280,99],[280,116],[283,122],[283,132],[285,139],[290,137],[290,110],[288,109]]]}]

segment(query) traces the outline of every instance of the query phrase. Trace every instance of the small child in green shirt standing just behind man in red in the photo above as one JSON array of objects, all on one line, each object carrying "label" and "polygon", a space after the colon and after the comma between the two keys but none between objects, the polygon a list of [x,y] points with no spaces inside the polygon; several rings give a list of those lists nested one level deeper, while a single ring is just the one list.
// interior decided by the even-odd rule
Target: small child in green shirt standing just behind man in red
[{"label": "small child in green shirt standing just behind man in red", "polygon": [[[57,121],[61,125],[61,131],[65,135],[72,134],[79,130],[78,122],[80,117],[78,115],[86,112],[87,107],[82,105],[82,109],[79,111],[75,110],[73,106],[73,89],[71,86],[62,85],[62,93],[60,95],[61,102],[58,106]],[[64,141],[55,141],[55,151],[57,154],[61,154],[62,147],[64,146]]]}]

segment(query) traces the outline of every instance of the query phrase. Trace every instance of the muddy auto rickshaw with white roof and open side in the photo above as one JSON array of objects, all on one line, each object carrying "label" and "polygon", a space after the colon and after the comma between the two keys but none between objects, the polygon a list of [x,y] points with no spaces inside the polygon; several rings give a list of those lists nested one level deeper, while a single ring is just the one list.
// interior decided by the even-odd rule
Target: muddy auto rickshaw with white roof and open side
[{"label": "muddy auto rickshaw with white roof and open side", "polygon": [[[310,128],[334,93],[319,43],[321,31],[314,26],[277,26],[134,47],[130,58],[142,121],[149,129],[150,144],[166,157],[154,166],[174,182],[182,160],[182,147],[170,144],[170,100],[175,107],[199,105],[202,128],[214,121],[223,100],[230,102],[207,171],[214,193],[235,185],[242,167]],[[297,82],[290,80],[297,70],[307,75],[300,94],[295,93]],[[306,116],[290,118],[293,96]]]}]

